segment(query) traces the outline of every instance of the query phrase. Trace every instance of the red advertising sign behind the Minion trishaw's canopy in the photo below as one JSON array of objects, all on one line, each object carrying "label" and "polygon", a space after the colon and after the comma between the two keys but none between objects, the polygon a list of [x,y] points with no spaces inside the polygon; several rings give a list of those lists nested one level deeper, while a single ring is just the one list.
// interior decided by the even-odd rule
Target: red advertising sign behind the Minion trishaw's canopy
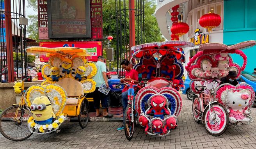
[{"label": "red advertising sign behind the Minion trishaw's canopy", "polygon": [[103,54],[101,41],[40,42],[39,45],[47,48],[58,48],[58,47],[85,48],[92,55],[91,59],[89,60],[94,62],[98,60],[98,56]]}]

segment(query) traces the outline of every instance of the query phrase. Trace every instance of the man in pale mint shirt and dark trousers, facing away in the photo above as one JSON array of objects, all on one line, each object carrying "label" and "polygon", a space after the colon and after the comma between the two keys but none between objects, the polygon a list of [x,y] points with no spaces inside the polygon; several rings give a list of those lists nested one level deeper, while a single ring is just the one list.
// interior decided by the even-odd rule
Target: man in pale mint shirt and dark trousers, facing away
[{"label": "man in pale mint shirt and dark trousers, facing away", "polygon": [[96,110],[96,116],[100,116],[100,101],[101,106],[103,108],[103,116],[104,117],[113,117],[112,114],[108,114],[108,96],[103,94],[102,92],[98,91],[101,84],[105,84],[108,87],[108,80],[107,80],[107,71],[106,65],[104,63],[104,57],[98,56],[98,62],[96,62],[96,66],[98,68],[96,75],[94,76],[93,80],[96,82],[96,89],[93,92],[93,103],[94,108]]}]

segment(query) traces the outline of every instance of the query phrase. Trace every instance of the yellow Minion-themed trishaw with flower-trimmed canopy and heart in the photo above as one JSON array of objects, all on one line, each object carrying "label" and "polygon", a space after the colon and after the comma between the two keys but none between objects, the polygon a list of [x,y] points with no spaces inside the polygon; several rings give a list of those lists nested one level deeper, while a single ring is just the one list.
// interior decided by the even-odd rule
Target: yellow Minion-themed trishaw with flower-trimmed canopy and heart
[{"label": "yellow Minion-themed trishaw with flower-trimmed canopy and heart", "polygon": [[0,116],[0,132],[10,140],[20,141],[33,133],[56,131],[67,117],[78,117],[81,128],[89,121],[87,93],[95,90],[92,80],[97,73],[90,54],[82,48],[30,47],[27,53],[45,54],[49,64],[42,68],[46,80],[24,90],[24,80],[16,81],[14,91],[22,93],[20,104],[7,108]]}]

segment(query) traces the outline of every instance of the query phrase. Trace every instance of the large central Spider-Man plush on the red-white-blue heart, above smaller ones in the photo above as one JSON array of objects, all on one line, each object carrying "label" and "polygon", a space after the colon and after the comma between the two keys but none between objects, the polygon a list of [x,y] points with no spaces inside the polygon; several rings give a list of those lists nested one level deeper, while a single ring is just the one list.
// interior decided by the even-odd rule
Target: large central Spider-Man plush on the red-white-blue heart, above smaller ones
[{"label": "large central Spider-Man plush on the red-white-blue heart, above smaller ones", "polygon": [[156,95],[151,99],[151,108],[147,114],[154,113],[154,117],[160,117],[161,119],[164,119],[164,113],[167,115],[170,115],[169,110],[165,108],[166,105],[166,99],[163,96]]}]

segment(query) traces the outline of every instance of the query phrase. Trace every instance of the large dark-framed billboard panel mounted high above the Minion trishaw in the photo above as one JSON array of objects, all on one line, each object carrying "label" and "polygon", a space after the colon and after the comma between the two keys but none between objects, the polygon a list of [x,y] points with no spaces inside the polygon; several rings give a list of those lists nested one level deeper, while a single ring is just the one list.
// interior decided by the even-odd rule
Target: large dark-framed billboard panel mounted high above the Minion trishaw
[{"label": "large dark-framed billboard panel mounted high above the Minion trishaw", "polygon": [[47,0],[49,38],[91,38],[90,0]]}]

